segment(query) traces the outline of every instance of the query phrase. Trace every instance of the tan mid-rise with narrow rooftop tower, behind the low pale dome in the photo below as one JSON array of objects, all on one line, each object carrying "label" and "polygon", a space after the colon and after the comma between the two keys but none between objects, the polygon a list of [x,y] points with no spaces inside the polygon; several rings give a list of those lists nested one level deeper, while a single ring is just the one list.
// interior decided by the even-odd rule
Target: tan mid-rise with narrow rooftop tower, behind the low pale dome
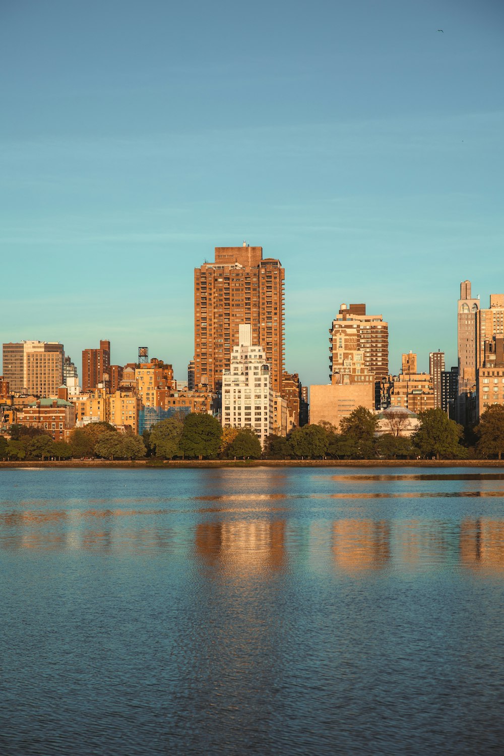
[{"label": "tan mid-rise with narrow rooftop tower, behind the low pale dome", "polygon": [[382,380],[382,408],[402,407],[418,414],[434,409],[434,384],[428,373],[418,373],[416,355],[402,355],[402,371],[398,376]]}]

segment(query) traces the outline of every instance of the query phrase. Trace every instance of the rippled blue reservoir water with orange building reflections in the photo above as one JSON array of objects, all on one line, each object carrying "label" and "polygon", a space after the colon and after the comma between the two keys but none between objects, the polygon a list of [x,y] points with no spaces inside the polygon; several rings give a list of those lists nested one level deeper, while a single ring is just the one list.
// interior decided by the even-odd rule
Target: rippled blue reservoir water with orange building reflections
[{"label": "rippled blue reservoir water with orange building reflections", "polygon": [[0,753],[499,754],[504,472],[0,470]]}]

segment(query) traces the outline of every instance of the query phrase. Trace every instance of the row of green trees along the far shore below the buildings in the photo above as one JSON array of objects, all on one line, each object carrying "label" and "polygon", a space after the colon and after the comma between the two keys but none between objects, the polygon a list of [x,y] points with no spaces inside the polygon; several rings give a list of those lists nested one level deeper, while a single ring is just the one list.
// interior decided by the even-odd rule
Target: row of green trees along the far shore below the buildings
[{"label": "row of green trees along the far shore below the buildings", "polygon": [[504,407],[498,404],[481,415],[475,429],[465,432],[441,409],[420,412],[418,418],[416,432],[404,436],[400,432],[407,415],[391,413],[388,432],[377,435],[379,418],[357,407],[339,429],[320,423],[295,428],[287,438],[269,435],[264,450],[253,429],[222,428],[208,414],[175,414],[143,436],[121,433],[109,423],[90,423],[74,429],[68,444],[54,442],[43,430],[13,425],[10,441],[0,436],[0,459],[502,459]]}]

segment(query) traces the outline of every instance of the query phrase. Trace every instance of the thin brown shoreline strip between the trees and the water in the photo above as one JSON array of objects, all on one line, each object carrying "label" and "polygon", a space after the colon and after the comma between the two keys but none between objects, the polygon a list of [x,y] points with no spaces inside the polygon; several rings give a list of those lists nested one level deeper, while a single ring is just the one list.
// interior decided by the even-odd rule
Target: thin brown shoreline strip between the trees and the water
[{"label": "thin brown shoreline strip between the trees and the water", "polygon": [[60,460],[0,461],[13,467],[174,469],[212,467],[504,467],[504,460]]}]

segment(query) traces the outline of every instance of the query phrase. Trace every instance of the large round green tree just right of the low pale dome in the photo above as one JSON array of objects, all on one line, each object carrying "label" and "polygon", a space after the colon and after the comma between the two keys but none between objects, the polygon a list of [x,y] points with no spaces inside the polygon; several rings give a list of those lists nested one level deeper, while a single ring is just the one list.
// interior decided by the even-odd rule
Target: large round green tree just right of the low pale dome
[{"label": "large round green tree just right of the low pale dome", "polygon": [[461,459],[467,450],[460,445],[462,426],[459,426],[441,409],[419,412],[420,427],[413,442],[424,457],[435,456],[437,460]]}]

